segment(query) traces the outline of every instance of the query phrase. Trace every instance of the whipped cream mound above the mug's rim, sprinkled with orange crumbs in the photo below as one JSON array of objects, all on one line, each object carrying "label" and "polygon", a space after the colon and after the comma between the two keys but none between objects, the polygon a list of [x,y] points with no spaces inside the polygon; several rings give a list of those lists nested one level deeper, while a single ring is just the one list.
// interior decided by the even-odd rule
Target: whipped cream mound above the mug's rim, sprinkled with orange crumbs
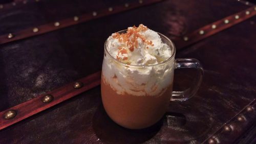
[{"label": "whipped cream mound above the mug's rim, sprinkled with orange crumbs", "polygon": [[106,49],[114,58],[132,65],[153,65],[172,55],[158,33],[142,24],[138,28],[129,27],[125,34],[112,34]]}]

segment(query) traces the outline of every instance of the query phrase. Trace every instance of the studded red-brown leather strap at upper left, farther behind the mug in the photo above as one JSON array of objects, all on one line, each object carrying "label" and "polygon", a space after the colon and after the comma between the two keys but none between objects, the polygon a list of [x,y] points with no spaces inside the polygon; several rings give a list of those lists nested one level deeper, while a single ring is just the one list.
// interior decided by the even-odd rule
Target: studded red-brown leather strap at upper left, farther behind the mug
[{"label": "studded red-brown leather strap at upper left, farther behind the mug", "polygon": [[162,0],[148,0],[148,1],[137,1],[136,3],[135,2],[126,3],[120,6],[118,5],[111,8],[94,11],[91,13],[85,13],[80,16],[74,16],[74,17],[70,17],[67,19],[59,20],[59,21],[53,21],[53,22],[47,23],[46,25],[35,26],[35,27],[28,28],[15,33],[1,35],[0,44],[67,28],[70,26],[77,25],[78,23],[82,23],[82,22],[86,22],[92,19],[103,17],[103,16],[108,16],[108,15],[120,13],[123,11],[139,8],[142,6],[158,3],[161,1]]}]

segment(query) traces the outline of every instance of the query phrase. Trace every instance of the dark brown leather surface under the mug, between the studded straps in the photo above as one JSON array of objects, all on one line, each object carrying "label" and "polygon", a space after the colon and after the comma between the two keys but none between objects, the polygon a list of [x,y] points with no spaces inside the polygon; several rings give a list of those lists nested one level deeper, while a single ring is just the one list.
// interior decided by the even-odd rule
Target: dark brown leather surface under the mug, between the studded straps
[{"label": "dark brown leather surface under the mug, between the studded straps", "polygon": [[[0,34],[118,3],[125,2],[42,1],[20,6],[0,12]],[[173,38],[246,8],[231,0],[164,1],[0,45],[0,110],[98,71],[104,40],[113,32],[143,23]],[[170,103],[167,118],[152,128],[132,131],[117,126],[104,112],[96,87],[0,131],[0,143],[201,143],[256,99],[255,20],[177,52],[177,58],[202,62],[203,83],[194,98]],[[194,72],[176,71],[175,88],[189,85]]]}]

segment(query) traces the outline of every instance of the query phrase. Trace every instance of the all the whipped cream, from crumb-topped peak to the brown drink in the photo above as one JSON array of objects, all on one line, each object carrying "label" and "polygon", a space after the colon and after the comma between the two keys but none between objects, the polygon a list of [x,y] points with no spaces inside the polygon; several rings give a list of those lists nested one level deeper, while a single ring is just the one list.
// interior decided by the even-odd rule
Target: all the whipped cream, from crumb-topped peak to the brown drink
[{"label": "all the whipped cream, from crumb-topped peak to the brown drink", "polygon": [[172,85],[174,58],[158,64],[170,58],[172,51],[157,32],[142,24],[129,27],[124,34],[112,34],[105,46],[116,60],[104,56],[102,76],[118,94],[158,96]]}]

